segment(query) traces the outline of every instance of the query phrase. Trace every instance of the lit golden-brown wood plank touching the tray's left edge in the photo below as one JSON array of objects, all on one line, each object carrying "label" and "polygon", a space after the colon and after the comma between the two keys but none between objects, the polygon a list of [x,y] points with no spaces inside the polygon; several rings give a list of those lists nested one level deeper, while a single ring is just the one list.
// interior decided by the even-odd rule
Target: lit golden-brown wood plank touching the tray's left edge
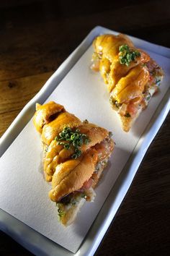
[{"label": "lit golden-brown wood plank touching the tray's left edge", "polygon": [[53,72],[1,82],[0,137],[22,108],[38,93]]}]

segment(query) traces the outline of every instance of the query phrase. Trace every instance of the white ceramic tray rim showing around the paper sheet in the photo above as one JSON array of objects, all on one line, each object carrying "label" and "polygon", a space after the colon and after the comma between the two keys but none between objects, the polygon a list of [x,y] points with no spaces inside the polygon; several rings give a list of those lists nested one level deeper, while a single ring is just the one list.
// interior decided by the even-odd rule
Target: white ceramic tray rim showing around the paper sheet
[{"label": "white ceramic tray rim showing around the paper sheet", "polygon": [[[75,51],[73,51],[71,56],[69,56],[68,59],[66,59],[66,61],[63,62],[61,67],[59,67],[58,70],[53,74],[53,76],[50,77],[48,82],[45,83],[45,85],[40,90],[40,92],[37,93],[37,95],[35,95],[35,97],[32,98],[32,100],[27,104],[27,106],[25,106],[22,109],[22,111],[17,116],[17,118],[13,121],[9,129],[7,129],[7,131],[1,137],[1,141],[0,141],[1,156],[5,155],[5,151],[9,148],[10,145],[12,145],[12,142],[14,142],[15,138],[17,138],[17,136],[19,135],[19,132],[21,132],[24,129],[26,124],[32,118],[32,115],[35,112],[35,103],[45,102],[45,100],[51,95],[51,93],[53,93],[55,88],[58,87],[59,83],[63,80],[63,78],[66,77],[68,72],[75,69],[76,67],[75,64],[79,63],[79,60],[82,59],[82,56],[84,56],[86,52],[91,51],[89,50],[89,46],[91,46],[91,43],[94,40],[94,38],[97,35],[103,34],[103,33],[117,34],[117,32],[107,30],[104,27],[95,27],[94,30],[92,30],[91,33],[89,33],[89,35],[84,39],[81,45],[78,48],[76,48]],[[156,56],[158,60],[164,59],[162,63],[165,67],[167,67],[165,72],[170,68],[170,49],[169,48],[165,48],[163,46],[156,46],[152,43],[148,43],[138,38],[133,38],[133,37],[130,37],[130,38],[133,40],[133,43],[135,44],[135,46],[137,46],[138,48],[145,49],[146,51],[149,52],[149,54],[151,54],[151,56],[152,55],[153,57]],[[92,75],[98,77],[98,78],[94,78],[94,80],[99,79],[99,74],[92,74]],[[95,217],[94,223],[92,223],[91,228],[86,234],[83,242],[81,243],[81,246],[79,247],[79,250],[76,252],[75,255],[77,256],[78,255],[94,255],[94,252],[96,252],[97,247],[102,241],[102,238],[105,232],[107,231],[109,224],[112,222],[112,219],[114,218],[115,213],[117,212],[117,209],[119,208],[123,198],[128,192],[130,184],[133,181],[135,173],[138,170],[138,166],[140,165],[143,159],[143,156],[146,153],[146,150],[148,149],[149,145],[151,144],[151,141],[155,137],[156,133],[158,132],[158,129],[161,127],[161,124],[164,122],[164,119],[166,118],[166,115],[169,112],[169,108],[170,108],[169,88],[168,88],[169,82],[170,82],[170,77],[167,72],[166,80],[164,80],[164,95],[161,94],[163,93],[163,90],[162,90],[160,95],[158,95],[157,99],[156,97],[153,99],[153,103],[151,104],[151,107],[148,106],[147,108],[148,112],[146,112],[146,116],[148,116],[146,120],[147,126],[145,127],[145,129],[143,129],[142,133],[140,131],[140,137],[136,135],[138,137],[138,142],[135,144],[133,153],[130,154],[130,158],[128,158],[128,161],[126,161],[125,166],[122,168],[120,174],[117,176],[117,179],[112,189],[110,191],[109,190],[107,191],[108,196],[106,194],[106,198],[104,198],[102,203],[102,208],[98,209],[99,213]],[[101,85],[103,83],[102,90],[104,90],[104,82],[102,82],[102,79],[99,80],[99,83],[101,83]],[[81,93],[81,89],[79,93]],[[103,93],[103,97],[106,99],[106,101],[109,101],[106,93],[105,94]],[[156,103],[156,101],[159,101],[159,102]],[[59,103],[66,106],[65,103],[63,102],[59,102]],[[66,107],[66,110],[72,112],[73,114],[76,114],[75,106],[73,107],[74,111],[71,111],[70,108]],[[111,108],[110,108],[110,111],[112,111]],[[150,111],[151,111],[151,116],[149,116]],[[112,111],[112,114],[114,115],[114,111]],[[79,116],[81,115],[81,113],[78,111],[76,115]],[[98,119],[93,114],[91,116],[93,116],[93,119],[92,120],[90,119],[90,121],[97,123]],[[84,117],[86,118],[86,116]],[[143,114],[143,117],[141,117],[141,119],[145,120],[145,114]],[[108,128],[110,129],[109,124],[108,124],[109,127],[107,127],[106,119],[104,120],[105,120],[105,123],[102,125],[102,119],[100,117],[99,124],[103,127],[106,127],[107,129]],[[139,117],[139,121],[137,121],[136,123],[136,126],[138,127],[138,129],[139,129],[140,121],[141,120]],[[117,123],[116,125],[117,127],[119,127],[120,123]],[[114,132],[114,127],[112,131]],[[118,134],[119,132],[116,131],[115,134],[116,133]],[[122,134],[117,135],[117,138],[119,136],[122,136]],[[116,142],[118,141],[116,140]],[[114,169],[114,165],[113,167],[111,166],[111,168]],[[1,171],[2,170],[0,166],[0,172]],[[102,186],[103,184],[100,187]],[[80,216],[81,214],[82,213],[79,213]],[[17,218],[14,218],[12,215],[10,215],[4,210],[0,210],[0,229],[6,232],[6,234],[9,234],[9,236],[12,236],[17,242],[22,244],[22,246],[30,250],[30,252],[34,253],[35,255],[69,255],[69,256],[73,255],[72,252],[69,252],[67,249],[64,249],[63,247],[56,244],[52,240],[48,239],[47,237],[43,236],[39,232],[30,228],[30,226],[27,226],[25,223],[23,223],[22,221],[19,221]]]}]

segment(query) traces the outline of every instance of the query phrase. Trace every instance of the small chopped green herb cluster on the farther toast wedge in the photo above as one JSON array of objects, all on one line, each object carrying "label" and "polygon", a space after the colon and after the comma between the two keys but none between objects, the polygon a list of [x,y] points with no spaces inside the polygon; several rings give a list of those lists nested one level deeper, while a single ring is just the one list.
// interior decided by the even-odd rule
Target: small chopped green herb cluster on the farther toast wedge
[{"label": "small chopped green herb cluster on the farther toast wedge", "polygon": [[122,46],[120,46],[119,51],[120,51],[119,53],[120,64],[123,64],[126,66],[129,66],[131,61],[135,61],[135,58],[140,56],[139,51],[130,50],[127,44],[123,44]]}]

